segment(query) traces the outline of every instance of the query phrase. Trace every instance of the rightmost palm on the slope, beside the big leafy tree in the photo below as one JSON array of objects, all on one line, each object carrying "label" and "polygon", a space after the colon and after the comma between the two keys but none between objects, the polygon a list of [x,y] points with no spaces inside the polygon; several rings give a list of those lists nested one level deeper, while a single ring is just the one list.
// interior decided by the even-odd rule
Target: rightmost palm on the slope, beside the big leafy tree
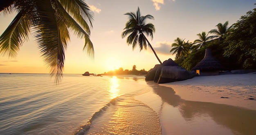
[{"label": "rightmost palm on the slope, beside the big leafy tree", "polygon": [[216,27],[218,29],[212,29],[211,31],[209,31],[209,33],[213,33],[216,35],[212,35],[210,36],[211,38],[218,38],[219,40],[223,40],[222,36],[232,27],[232,25],[230,27],[228,27],[229,25],[229,21],[226,21],[224,24],[219,23],[216,25]]}]

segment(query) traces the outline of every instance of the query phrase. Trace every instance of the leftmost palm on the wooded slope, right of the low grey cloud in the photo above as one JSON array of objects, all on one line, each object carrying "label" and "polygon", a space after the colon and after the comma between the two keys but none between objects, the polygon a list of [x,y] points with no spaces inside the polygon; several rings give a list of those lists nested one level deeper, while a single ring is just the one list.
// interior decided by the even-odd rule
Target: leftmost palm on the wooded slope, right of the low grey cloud
[{"label": "leftmost palm on the wooded slope, right of the low grey cloud", "polygon": [[177,53],[177,59],[182,57],[184,60],[190,52],[191,43],[189,43],[189,41],[185,42],[184,40],[185,39],[177,38],[174,40],[175,43],[172,44],[174,48],[171,49],[170,53]]}]

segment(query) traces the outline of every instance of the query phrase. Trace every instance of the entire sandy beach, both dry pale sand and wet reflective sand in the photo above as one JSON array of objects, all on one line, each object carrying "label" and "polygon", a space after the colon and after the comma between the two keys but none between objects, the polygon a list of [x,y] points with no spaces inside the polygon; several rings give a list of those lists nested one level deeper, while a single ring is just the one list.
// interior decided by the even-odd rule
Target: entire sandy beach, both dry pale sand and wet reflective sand
[{"label": "entire sandy beach, both dry pale sand and wet reflective sand", "polygon": [[162,135],[256,135],[256,74],[147,84],[135,99],[157,112]]}]

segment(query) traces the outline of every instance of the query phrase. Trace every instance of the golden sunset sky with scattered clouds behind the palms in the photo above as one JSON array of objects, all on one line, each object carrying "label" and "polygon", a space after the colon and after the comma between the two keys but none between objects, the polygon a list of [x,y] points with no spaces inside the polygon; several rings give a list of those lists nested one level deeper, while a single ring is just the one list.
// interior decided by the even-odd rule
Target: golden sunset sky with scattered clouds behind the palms
[{"label": "golden sunset sky with scattered clouds behind the palms", "polygon": [[[65,52],[63,73],[104,73],[113,69],[149,70],[159,64],[148,47],[139,51],[128,46],[121,38],[127,16],[124,13],[136,12],[141,15],[153,15],[155,20],[148,22],[155,25],[154,38],[149,41],[159,59],[163,62],[172,58],[171,44],[177,37],[193,42],[202,31],[216,29],[218,23],[229,21],[234,24],[246,12],[256,7],[254,0],[86,0],[94,11],[91,41],[94,45],[94,60],[83,52],[84,41],[72,35]],[[0,13],[0,34],[13,20],[15,13]],[[49,73],[50,69],[40,57],[33,38],[25,42],[16,58],[0,56],[0,73]]]}]

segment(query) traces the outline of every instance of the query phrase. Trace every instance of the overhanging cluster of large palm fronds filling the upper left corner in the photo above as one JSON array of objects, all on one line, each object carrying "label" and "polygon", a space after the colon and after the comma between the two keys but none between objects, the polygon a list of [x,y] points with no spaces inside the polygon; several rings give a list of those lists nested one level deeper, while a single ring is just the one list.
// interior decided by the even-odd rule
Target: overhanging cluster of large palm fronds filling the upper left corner
[{"label": "overhanging cluster of large palm fronds filling the upper left corner", "polygon": [[[2,0],[8,1],[8,0]],[[9,27],[0,36],[0,54],[16,57],[31,32],[55,83],[61,82],[69,30],[85,40],[83,50],[94,57],[90,41],[92,11],[82,0],[10,0],[14,3],[3,10],[17,11]]]}]

